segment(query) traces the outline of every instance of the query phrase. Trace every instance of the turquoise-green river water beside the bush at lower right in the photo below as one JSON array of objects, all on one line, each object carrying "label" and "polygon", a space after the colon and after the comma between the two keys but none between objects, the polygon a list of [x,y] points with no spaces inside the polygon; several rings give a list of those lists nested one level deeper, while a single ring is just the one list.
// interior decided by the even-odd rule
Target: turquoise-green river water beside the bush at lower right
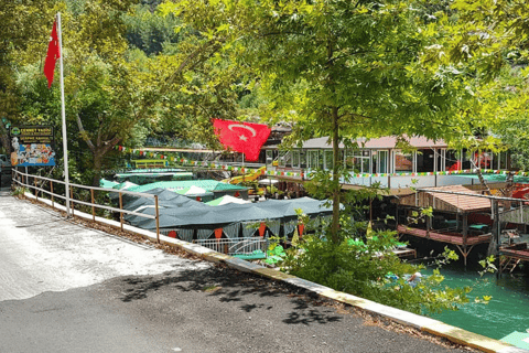
[{"label": "turquoise-green river water beside the bush at lower right", "polygon": [[[461,268],[441,269],[449,287],[472,287],[471,302],[458,311],[445,311],[432,315],[454,327],[499,340],[512,331],[529,329],[529,278],[496,275],[479,277],[477,271]],[[475,297],[492,296],[488,304],[475,303]]]}]

